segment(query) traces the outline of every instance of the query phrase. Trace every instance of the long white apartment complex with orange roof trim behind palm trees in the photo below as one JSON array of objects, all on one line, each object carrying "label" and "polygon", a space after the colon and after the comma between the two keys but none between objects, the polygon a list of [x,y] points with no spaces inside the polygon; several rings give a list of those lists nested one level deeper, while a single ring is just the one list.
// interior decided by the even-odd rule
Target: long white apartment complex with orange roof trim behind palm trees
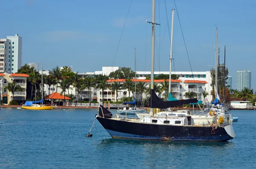
[{"label": "long white apartment complex with orange roof trim behind palm trees", "polygon": [[[94,76],[96,74],[106,74],[109,75],[111,72],[116,71],[117,69],[120,69],[120,67],[102,67],[102,71],[95,71],[95,72],[84,72],[84,73],[78,73],[79,77],[84,78],[86,76]],[[40,72],[40,71],[39,71]],[[150,72],[137,72],[138,78],[137,83],[145,82],[147,86],[150,84],[150,80],[146,80],[145,77],[150,74]],[[154,76],[158,76],[159,74],[169,74],[169,72],[155,72]],[[210,95],[212,87],[210,86],[212,78],[210,76],[210,72],[175,72],[173,74],[177,74],[177,77],[179,77],[178,80],[172,80],[171,88],[172,88],[172,95],[176,97],[177,99],[186,99],[183,95],[185,95],[188,91],[193,91],[198,94],[199,100],[204,100],[204,97],[202,96],[202,92],[206,91],[209,93],[207,96],[208,100],[212,100],[212,95]],[[118,80],[108,80],[108,83],[114,83],[115,81],[118,81],[120,83],[124,83],[125,79],[118,79]],[[163,80],[154,80],[155,83],[158,85]],[[61,89],[58,87],[58,91],[56,91],[56,86],[50,86],[49,90],[47,87],[45,87],[46,93],[52,92],[61,92]],[[67,91],[66,91],[67,93]],[[81,92],[76,92],[75,88],[69,89],[69,94],[75,95],[79,97],[79,100],[89,100],[89,97],[91,96],[91,100],[102,102],[102,96],[104,96],[104,101],[116,101],[116,94],[115,92],[111,92],[110,89],[106,89],[104,93],[100,89],[94,89],[91,88],[91,92],[89,93],[88,89],[84,89]],[[117,100],[121,100],[122,97],[128,97],[128,91],[127,90],[120,90],[118,91],[118,97]],[[132,93],[130,93],[130,96],[132,96]],[[143,95],[145,97],[145,95]],[[163,96],[160,96],[163,97]],[[136,95],[137,100],[140,100],[139,95]]]}]

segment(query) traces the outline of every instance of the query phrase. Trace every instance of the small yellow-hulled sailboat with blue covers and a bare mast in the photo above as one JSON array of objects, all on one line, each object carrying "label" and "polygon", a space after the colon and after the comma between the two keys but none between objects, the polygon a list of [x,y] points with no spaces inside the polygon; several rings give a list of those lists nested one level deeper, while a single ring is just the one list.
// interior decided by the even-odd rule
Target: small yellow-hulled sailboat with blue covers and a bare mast
[{"label": "small yellow-hulled sailboat with blue covers and a bare mast", "polygon": [[[41,92],[42,92],[42,99],[39,101],[26,101],[25,104],[21,106],[22,109],[28,109],[28,110],[51,110],[54,108],[52,105],[46,105],[44,103],[44,89],[43,89],[43,63],[42,64],[42,72],[41,72]],[[38,104],[39,103],[39,104]]]}]

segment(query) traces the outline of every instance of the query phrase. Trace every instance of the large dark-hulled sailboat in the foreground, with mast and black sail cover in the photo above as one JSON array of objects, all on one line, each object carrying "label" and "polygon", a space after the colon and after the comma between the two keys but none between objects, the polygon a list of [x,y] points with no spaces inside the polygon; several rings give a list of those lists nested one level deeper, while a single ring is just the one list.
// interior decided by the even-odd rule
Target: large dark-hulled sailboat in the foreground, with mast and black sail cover
[{"label": "large dark-hulled sailboat in the foreground, with mast and black sail cover", "polygon": [[[96,119],[114,138],[143,140],[185,140],[185,141],[227,141],[235,137],[232,121],[215,117],[211,124],[195,125],[191,116],[156,117],[153,109],[167,109],[182,104],[197,103],[196,98],[187,100],[162,101],[154,92],[154,26],[155,0],[152,0],[151,36],[151,96],[150,115],[143,119],[113,116],[104,106],[99,106]],[[229,115],[232,117],[232,115]],[[226,119],[226,120],[224,120]],[[232,118],[230,118],[232,119]]]}]

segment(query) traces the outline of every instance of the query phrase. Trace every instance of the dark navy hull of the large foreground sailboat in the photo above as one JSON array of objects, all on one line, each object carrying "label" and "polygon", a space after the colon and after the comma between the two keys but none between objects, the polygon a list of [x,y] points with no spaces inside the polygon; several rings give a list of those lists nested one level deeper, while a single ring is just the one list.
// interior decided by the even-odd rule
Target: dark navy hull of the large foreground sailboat
[{"label": "dark navy hull of the large foreground sailboat", "polygon": [[[224,127],[171,126],[134,123],[97,117],[111,137],[142,140],[227,141],[233,139]],[[232,127],[232,126],[231,126]],[[228,126],[230,129],[230,126]],[[233,127],[232,127],[233,130]]]}]

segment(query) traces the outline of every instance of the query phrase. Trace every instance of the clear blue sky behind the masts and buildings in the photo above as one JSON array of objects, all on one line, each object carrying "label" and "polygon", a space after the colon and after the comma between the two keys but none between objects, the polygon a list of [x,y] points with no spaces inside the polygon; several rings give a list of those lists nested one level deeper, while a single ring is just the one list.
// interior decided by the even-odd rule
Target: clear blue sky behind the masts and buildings
[{"label": "clear blue sky behind the masts and buildings", "polygon": [[[6,0],[1,2],[0,38],[19,34],[23,37],[25,63],[44,64],[44,69],[73,66],[74,71],[94,72],[102,66],[134,69],[136,47],[137,70],[150,71],[151,0],[133,0],[122,39],[116,53],[130,0]],[[159,4],[159,5],[158,5]],[[209,71],[214,65],[215,25],[221,63],[226,62],[236,88],[236,71],[251,70],[252,88],[256,52],[256,1],[254,0],[176,0],[173,57],[175,71]],[[4,7],[4,8],[3,8]],[[168,17],[175,9],[166,0]],[[160,10],[159,10],[160,9]],[[169,71],[170,40],[164,0],[156,0],[155,71]],[[169,20],[171,28],[171,19]],[[165,34],[166,32],[166,34]],[[160,54],[159,54],[160,46]],[[114,59],[116,53],[116,57]],[[40,67],[40,66],[39,66]],[[174,71],[174,69],[173,69]]]}]

